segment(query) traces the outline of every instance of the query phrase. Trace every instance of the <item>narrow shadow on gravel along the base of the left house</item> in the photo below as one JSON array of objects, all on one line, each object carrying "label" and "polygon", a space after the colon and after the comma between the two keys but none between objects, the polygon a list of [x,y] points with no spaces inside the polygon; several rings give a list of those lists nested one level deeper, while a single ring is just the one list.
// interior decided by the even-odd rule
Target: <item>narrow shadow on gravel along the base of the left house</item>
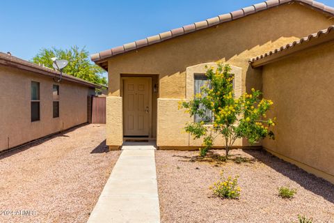
[{"label": "narrow shadow on gravel along the base of the left house", "polygon": [[15,146],[13,148],[9,148],[8,150],[6,151],[1,151],[0,152],[0,160],[6,158],[6,157],[10,157],[12,155],[15,155],[17,153],[21,153],[33,146],[38,146],[40,144],[43,144],[45,141],[49,141],[50,139],[54,139],[56,137],[69,137],[68,135],[66,135],[67,133],[69,132],[72,132],[74,130],[76,130],[77,128],[81,128],[81,127],[84,127],[85,125],[89,125],[88,123],[84,123],[84,124],[81,124],[81,125],[77,125],[77,126],[74,126],[72,128],[69,128],[67,130],[63,130],[61,132],[56,132],[56,133],[53,133],[53,134],[49,134],[45,137],[42,137],[40,139],[35,139],[33,141],[28,141],[26,142],[25,144],[22,144],[20,146]]}]

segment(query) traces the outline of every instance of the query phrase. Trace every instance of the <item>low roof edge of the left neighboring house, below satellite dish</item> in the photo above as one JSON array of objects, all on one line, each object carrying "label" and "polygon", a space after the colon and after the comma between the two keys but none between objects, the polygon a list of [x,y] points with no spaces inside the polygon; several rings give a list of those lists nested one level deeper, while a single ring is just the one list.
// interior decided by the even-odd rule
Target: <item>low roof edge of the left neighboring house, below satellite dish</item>
[{"label": "low roof edge of the left neighboring house, below satellite dish", "polygon": [[[21,70],[28,70],[31,72],[38,73],[40,75],[47,75],[49,77],[54,77],[54,78],[59,78],[61,75],[61,72],[58,72],[57,70],[39,66],[38,64],[31,63],[29,61],[24,61],[23,59],[19,59],[16,56],[4,54],[3,52],[0,52],[0,64],[3,66],[15,67]],[[75,82],[77,84],[82,84],[93,88],[101,88],[101,86],[98,84],[93,84],[91,82],[85,81],[84,79],[73,77],[72,75],[66,75],[64,73],[63,73],[63,79],[65,79],[68,82]]]}]

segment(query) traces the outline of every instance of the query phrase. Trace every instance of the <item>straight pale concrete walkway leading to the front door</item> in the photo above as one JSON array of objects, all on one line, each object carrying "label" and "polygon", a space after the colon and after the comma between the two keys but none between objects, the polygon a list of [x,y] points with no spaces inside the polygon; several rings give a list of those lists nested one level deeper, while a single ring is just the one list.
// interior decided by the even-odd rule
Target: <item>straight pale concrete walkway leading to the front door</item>
[{"label": "straight pale concrete walkway leading to the front door", "polygon": [[88,223],[160,222],[154,150],[148,143],[122,146]]}]

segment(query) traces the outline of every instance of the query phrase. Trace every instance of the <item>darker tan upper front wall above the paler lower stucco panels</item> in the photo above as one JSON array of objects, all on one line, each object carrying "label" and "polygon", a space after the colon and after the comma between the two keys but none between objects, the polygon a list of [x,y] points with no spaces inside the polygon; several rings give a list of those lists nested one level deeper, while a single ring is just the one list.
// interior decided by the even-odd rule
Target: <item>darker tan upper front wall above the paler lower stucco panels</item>
[{"label": "darker tan upper front wall above the paler lower stucco panels", "polygon": [[[159,98],[184,99],[186,68],[215,61],[230,63],[242,69],[243,92],[252,87],[262,89],[262,71],[250,68],[248,59],[331,24],[333,21],[325,15],[294,3],[114,56],[108,61],[109,95],[120,96],[122,74],[157,74]],[[159,128],[164,128],[159,127],[159,114],[164,114],[164,108],[159,108],[158,102],[158,138]],[[169,125],[174,126],[176,123]]]}]

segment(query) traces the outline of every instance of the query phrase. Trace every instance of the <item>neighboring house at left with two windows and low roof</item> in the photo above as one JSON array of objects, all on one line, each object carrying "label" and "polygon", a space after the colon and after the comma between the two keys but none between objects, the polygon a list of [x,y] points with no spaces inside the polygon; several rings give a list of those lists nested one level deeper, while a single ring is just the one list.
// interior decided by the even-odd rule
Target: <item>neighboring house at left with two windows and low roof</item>
[{"label": "neighboring house at left with two windows and low roof", "polygon": [[100,86],[0,53],[0,151],[88,120]]}]

